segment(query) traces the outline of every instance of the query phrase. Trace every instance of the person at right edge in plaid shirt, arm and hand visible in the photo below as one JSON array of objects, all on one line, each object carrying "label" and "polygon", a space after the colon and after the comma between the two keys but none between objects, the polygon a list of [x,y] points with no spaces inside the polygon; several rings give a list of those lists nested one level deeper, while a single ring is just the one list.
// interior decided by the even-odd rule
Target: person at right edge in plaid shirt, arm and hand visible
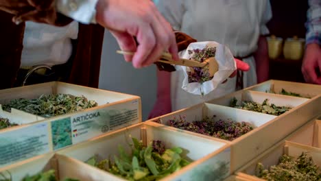
[{"label": "person at right edge in plaid shirt, arm and hand visible", "polygon": [[305,36],[305,57],[302,74],[305,81],[321,84],[321,1],[309,0],[307,12],[307,34]]}]

